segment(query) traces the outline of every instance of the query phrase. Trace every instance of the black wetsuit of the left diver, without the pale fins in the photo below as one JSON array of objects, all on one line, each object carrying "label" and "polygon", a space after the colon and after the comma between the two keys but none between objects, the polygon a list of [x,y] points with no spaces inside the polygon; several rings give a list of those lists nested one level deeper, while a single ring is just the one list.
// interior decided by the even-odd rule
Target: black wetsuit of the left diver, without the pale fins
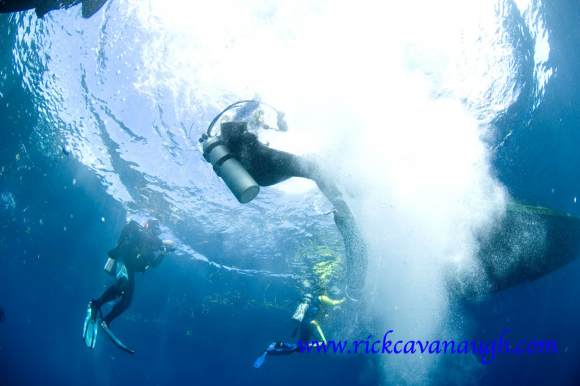
[{"label": "black wetsuit of the left diver, without the pale fins", "polygon": [[[99,309],[103,304],[118,299],[117,303],[103,321],[110,325],[113,319],[121,315],[131,304],[135,289],[135,273],[145,272],[150,267],[159,265],[163,258],[163,242],[150,231],[145,230],[135,221],[125,225],[117,246],[108,255],[117,261],[117,265],[126,268],[126,275],[117,274],[116,281],[100,298],[93,300]],[[122,264],[122,265],[121,265]]]}]

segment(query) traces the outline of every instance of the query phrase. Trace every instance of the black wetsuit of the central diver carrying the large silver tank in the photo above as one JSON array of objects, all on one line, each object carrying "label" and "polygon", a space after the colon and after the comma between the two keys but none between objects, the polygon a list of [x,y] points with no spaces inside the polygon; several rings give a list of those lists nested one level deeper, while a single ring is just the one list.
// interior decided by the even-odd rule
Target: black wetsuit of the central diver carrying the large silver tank
[{"label": "black wetsuit of the central diver carrying the large silver tank", "polygon": [[318,165],[304,157],[272,149],[247,130],[245,122],[221,125],[221,136],[234,155],[260,186],[270,186],[292,177],[313,180],[334,206],[334,221],[346,250],[349,287],[358,290],[364,285],[367,249],[354,216],[334,183],[324,178]]}]

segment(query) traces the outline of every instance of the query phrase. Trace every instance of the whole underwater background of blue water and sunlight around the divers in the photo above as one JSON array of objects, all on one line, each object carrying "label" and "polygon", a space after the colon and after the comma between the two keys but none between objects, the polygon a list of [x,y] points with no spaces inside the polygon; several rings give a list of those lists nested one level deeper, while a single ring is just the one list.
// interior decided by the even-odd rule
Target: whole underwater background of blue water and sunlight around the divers
[{"label": "whole underwater background of blue water and sunlight around the divers", "polygon": [[[473,302],[442,284],[450,261],[473,265],[507,197],[580,216],[577,1],[111,0],[89,20],[0,15],[0,36],[0,385],[580,384],[580,263]],[[350,186],[371,246],[364,305],[327,336],[509,328],[559,352],[254,369],[288,336],[305,279],[343,254],[313,184],[241,205],[203,160],[209,121],[254,96],[288,119],[265,140]],[[115,321],[137,353],[103,334],[89,350],[106,253],[127,218],[148,217],[178,251],[137,277]]]}]

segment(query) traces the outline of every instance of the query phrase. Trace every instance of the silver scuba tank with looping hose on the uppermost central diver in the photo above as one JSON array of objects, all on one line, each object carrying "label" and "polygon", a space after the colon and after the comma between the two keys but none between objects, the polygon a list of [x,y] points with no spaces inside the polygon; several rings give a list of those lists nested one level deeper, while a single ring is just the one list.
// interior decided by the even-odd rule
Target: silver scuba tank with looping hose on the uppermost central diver
[{"label": "silver scuba tank with looping hose on the uppermost central diver", "polygon": [[[264,104],[256,100],[242,100],[232,103],[214,117],[207,129],[207,133],[203,134],[199,139],[203,148],[203,158],[213,166],[215,173],[224,180],[227,187],[242,204],[246,204],[256,198],[260,192],[260,186],[240,161],[233,156],[222,136],[212,136],[211,130],[225,112],[236,106],[247,103]],[[276,109],[274,110],[278,114],[279,128],[285,130],[287,125],[284,121],[284,114]],[[236,123],[224,123],[222,124],[222,128],[231,126],[232,124]]]}]

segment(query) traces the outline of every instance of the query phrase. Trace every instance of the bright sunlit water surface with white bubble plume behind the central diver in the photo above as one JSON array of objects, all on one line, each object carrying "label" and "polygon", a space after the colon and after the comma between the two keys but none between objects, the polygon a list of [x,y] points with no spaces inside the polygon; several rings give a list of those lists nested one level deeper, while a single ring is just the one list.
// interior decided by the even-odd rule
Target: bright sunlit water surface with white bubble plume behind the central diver
[{"label": "bright sunlit water surface with white bubble plume behind the central diver", "polygon": [[[478,277],[477,236],[509,200],[491,164],[494,119],[521,98],[536,108],[553,74],[541,11],[534,0],[125,0],[88,21],[66,18],[75,9],[21,16],[17,63],[43,100],[41,135],[129,211],[173,224],[192,256],[220,234],[224,256],[291,273],[272,263],[279,245],[338,238],[329,204],[290,181],[242,207],[197,143],[238,99],[284,111],[290,130],[267,141],[321,161],[369,244],[365,313],[428,339],[461,332],[445,277]],[[436,367],[390,357],[385,380],[421,383]]]}]

